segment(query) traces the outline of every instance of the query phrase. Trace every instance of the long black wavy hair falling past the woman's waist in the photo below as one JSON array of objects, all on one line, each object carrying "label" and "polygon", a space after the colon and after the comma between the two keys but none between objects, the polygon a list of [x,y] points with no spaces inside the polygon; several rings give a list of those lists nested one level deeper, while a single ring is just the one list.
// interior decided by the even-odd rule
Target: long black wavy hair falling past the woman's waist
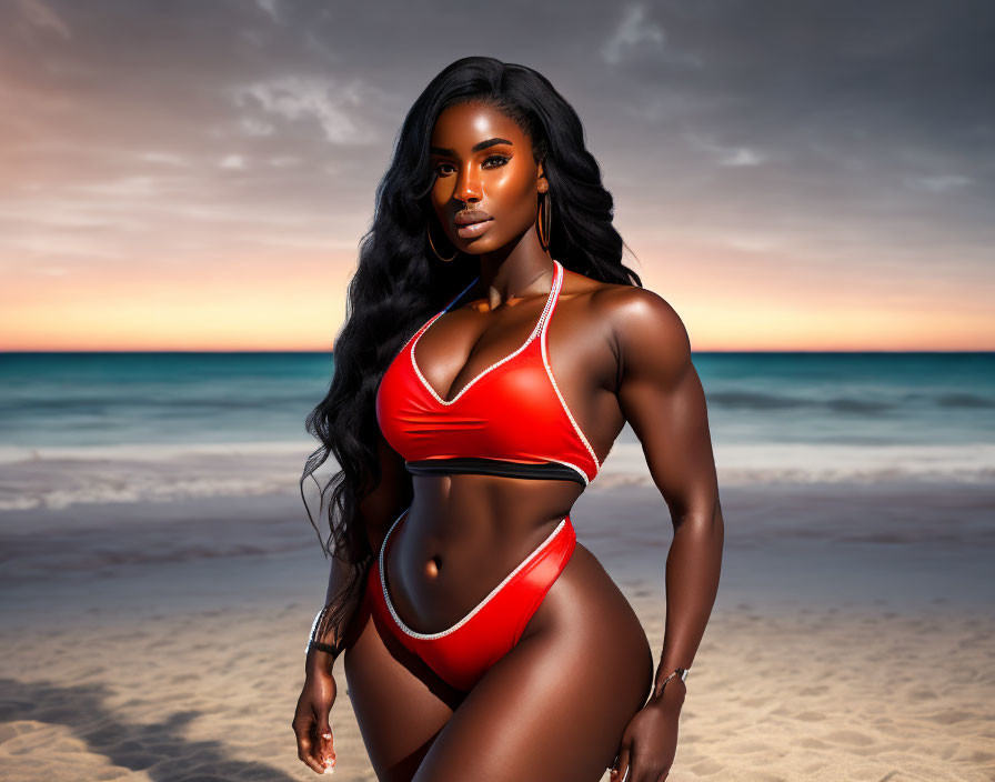
[{"label": "long black wavy hair falling past the woman's waist", "polygon": [[[322,549],[355,565],[328,604],[320,636],[361,596],[373,559],[359,504],[381,480],[374,410],[380,380],[411,335],[480,273],[473,257],[439,260],[425,238],[429,221],[435,220],[429,200],[435,182],[429,158],[432,129],[443,110],[468,102],[501,111],[532,140],[532,156],[536,163],[542,161],[553,197],[550,254],[586,277],[642,287],[639,275],[622,263],[622,248],[627,245],[612,224],[614,201],[585,147],[581,120],[545,77],[491,57],[464,57],[432,79],[404,118],[393,159],[376,187],[372,227],[360,240],[345,321],[334,342],[329,391],[305,422],[321,445],[308,458],[301,497],[309,477],[320,488],[322,505],[331,492],[330,532]],[[438,225],[432,233],[444,237]],[[452,255],[449,242],[433,241],[441,255]],[[321,488],[313,473],[329,454],[340,470]],[[411,497],[411,475],[406,482],[401,493]],[[396,512],[401,510],[403,505]],[[310,509],[308,517],[321,540]]]}]

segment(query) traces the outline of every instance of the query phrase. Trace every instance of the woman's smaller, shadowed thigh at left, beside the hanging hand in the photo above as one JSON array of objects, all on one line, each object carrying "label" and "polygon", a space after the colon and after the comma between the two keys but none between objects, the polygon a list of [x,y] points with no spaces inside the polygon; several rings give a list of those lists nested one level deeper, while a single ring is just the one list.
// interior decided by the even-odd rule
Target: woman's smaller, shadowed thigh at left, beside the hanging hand
[{"label": "woman's smaller, shadowed thigh at left, beside the hanging hand", "polygon": [[463,693],[368,614],[343,653],[349,700],[381,782],[409,782]]}]

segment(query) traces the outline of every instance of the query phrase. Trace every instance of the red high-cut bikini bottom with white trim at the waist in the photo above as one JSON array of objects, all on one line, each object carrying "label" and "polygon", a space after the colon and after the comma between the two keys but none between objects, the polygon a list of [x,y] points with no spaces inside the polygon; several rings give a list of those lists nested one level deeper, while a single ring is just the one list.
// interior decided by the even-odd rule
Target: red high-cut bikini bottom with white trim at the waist
[{"label": "red high-cut bikini bottom with white trim at the waist", "polygon": [[[405,625],[394,610],[384,574],[391,532],[406,514],[405,510],[391,524],[380,547],[380,558],[370,567],[360,613],[369,611],[381,632],[396,638],[452,686],[469,691],[522,638],[532,614],[566,567],[576,545],[576,532],[570,517],[564,517],[463,619],[438,633],[419,633]],[[365,616],[360,625],[364,623]]]}]

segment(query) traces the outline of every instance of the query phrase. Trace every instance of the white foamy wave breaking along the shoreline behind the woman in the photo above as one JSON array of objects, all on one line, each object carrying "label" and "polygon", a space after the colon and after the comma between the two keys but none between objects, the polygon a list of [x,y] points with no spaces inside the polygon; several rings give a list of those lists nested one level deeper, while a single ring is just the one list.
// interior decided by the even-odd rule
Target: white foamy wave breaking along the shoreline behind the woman
[{"label": "white foamy wave breaking along the shoreline behind the woman", "polygon": [[[0,511],[80,503],[297,494],[313,441],[0,448]],[[995,485],[995,445],[715,445],[720,485],[943,482]],[[323,484],[338,464],[322,465]],[[617,441],[589,491],[651,485],[639,442]],[[305,490],[316,488],[310,481]],[[311,500],[309,500],[309,503]]]}]

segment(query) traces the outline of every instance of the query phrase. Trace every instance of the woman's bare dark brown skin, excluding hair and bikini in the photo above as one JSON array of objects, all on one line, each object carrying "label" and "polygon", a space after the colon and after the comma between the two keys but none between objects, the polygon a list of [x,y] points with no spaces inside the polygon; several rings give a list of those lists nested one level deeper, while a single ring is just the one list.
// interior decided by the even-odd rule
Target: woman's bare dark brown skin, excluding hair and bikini
[{"label": "woman's bare dark brown skin, excluding hair and bikini", "polygon": [[[502,142],[473,150],[481,142]],[[430,198],[436,248],[453,263],[480,258],[481,280],[418,344],[416,360],[443,399],[516,350],[535,325],[553,274],[536,232],[536,197],[549,182],[530,139],[482,104],[452,107],[433,129],[436,181]],[[443,151],[448,150],[448,151]],[[553,198],[556,193],[552,193]],[[489,230],[458,235],[469,204]],[[569,261],[567,261],[569,262]],[[646,634],[631,604],[577,542],[512,649],[469,693],[453,690],[372,621],[344,653],[349,694],[381,780],[597,780],[667,776],[691,668],[717,592],[723,520],[705,398],[676,312],[652,291],[565,270],[550,321],[550,364],[577,425],[603,462],[624,423],[639,437],[670,511],[666,625],[654,675]],[[403,495],[404,463],[381,438],[383,479],[361,504],[379,551]],[[492,475],[416,475],[405,522],[392,539],[386,577],[402,620],[438,632],[462,619],[570,512],[571,481]],[[342,577],[332,567],[331,596]],[[308,655],[294,731],[314,771],[334,759],[328,714],[334,660]],[[652,690],[651,690],[652,688]],[[649,694],[649,698],[647,698]],[[402,715],[402,716],[399,716]],[[325,738],[321,738],[324,734]]]}]

